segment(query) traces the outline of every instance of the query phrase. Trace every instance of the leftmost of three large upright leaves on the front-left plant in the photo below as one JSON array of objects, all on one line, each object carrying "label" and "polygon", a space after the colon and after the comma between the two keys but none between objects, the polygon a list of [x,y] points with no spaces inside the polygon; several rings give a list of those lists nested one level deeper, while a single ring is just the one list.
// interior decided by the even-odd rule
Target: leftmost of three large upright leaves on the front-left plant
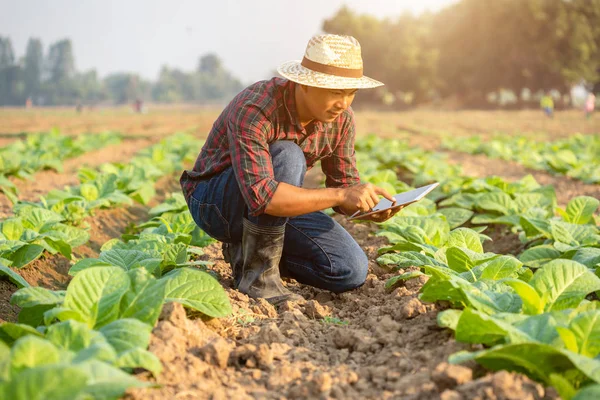
[{"label": "leftmost of three large upright leaves on the front-left plant", "polygon": [[69,283],[63,307],[79,313],[90,328],[118,318],[120,301],[130,282],[119,267],[95,267],[79,272]]}]

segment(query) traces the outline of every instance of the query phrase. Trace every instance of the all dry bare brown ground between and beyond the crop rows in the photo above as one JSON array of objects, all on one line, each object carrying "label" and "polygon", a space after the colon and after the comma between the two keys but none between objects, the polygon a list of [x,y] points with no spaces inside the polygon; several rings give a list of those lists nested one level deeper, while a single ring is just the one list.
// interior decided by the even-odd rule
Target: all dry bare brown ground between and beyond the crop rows
[{"label": "all dry bare brown ground between and beyond the crop rows", "polygon": [[[63,113],[46,116],[36,114],[33,118],[33,114],[23,113],[0,110],[0,120],[3,121],[0,130],[16,133],[33,129],[31,127],[44,130],[57,125],[65,132],[75,133],[81,129],[95,131],[104,127],[152,137],[126,141],[118,150],[113,149],[114,152],[99,150],[70,161],[64,174],[45,171],[37,174],[32,183],[19,182],[21,195],[32,200],[44,191],[71,184],[77,165],[127,161],[132,147],[149,144],[177,130],[175,126],[202,136],[210,128],[212,117],[218,114],[206,110],[162,109],[156,113],[151,110],[149,114],[135,115],[126,110],[112,110],[107,111],[104,117],[88,117],[87,111],[79,116],[64,110]],[[8,121],[16,122],[5,124],[7,119],[3,117],[7,115],[10,117]],[[536,122],[535,114],[529,112],[461,115],[462,118],[450,113],[421,111],[405,114],[357,113],[357,119],[359,132],[381,132],[388,137],[395,137],[406,126],[416,124],[437,129],[438,125],[443,125],[442,121],[446,121],[448,128],[479,124],[474,126],[482,130],[522,123],[532,132],[543,129],[536,127],[536,123],[548,122],[553,125],[545,128],[546,131],[559,137],[566,127],[575,128],[576,118],[574,113],[565,113],[563,121],[563,114],[558,113],[555,121]],[[512,116],[517,122],[511,120]],[[77,121],[77,118],[81,120]],[[489,121],[492,122],[488,126],[486,122]],[[412,144],[435,148],[432,140],[435,135],[415,133],[402,137]],[[454,153],[449,156],[452,162],[462,164],[469,173],[477,176],[493,174],[518,179],[531,172],[513,163],[478,156]],[[557,194],[561,203],[584,193],[600,197],[599,185],[583,185],[564,177],[536,174],[540,182],[560,188]],[[311,176],[313,182],[318,178]],[[165,178],[158,187],[160,201],[165,193],[178,190],[177,176]],[[4,201],[2,197],[0,195],[0,204]],[[6,207],[2,210],[4,215],[9,213]],[[98,212],[88,220],[92,240],[78,248],[76,254],[97,255],[103,242],[119,237],[128,224],[146,218],[147,209],[140,206]],[[370,260],[374,260],[377,248],[385,242],[385,239],[373,235],[376,227],[373,224],[348,223],[339,217],[338,220],[357,239]],[[491,234],[496,240],[487,245],[491,246],[487,250],[503,253],[519,251],[520,244],[514,236],[502,230]],[[206,248],[204,257],[214,261],[211,268],[220,276],[229,293],[234,314],[229,318],[203,321],[197,316],[186,315],[180,306],[166,306],[151,342],[151,350],[163,361],[165,370],[157,378],[147,373],[139,374],[141,379],[156,381],[162,387],[132,391],[127,398],[450,400],[556,397],[553,390],[546,390],[517,374],[492,374],[475,365],[446,364],[450,354],[469,347],[457,343],[448,331],[437,327],[436,314],[443,305],[423,304],[418,300],[422,280],[386,291],[384,283],[391,273],[371,261],[370,274],[361,288],[335,295],[291,281],[287,282],[288,287],[302,294],[307,301],[287,303],[276,309],[232,289],[230,270],[223,261],[219,244]],[[69,281],[66,274],[68,267],[68,260],[57,256],[38,260],[19,272],[31,284],[63,289]],[[8,303],[15,290],[14,285],[0,281],[0,320],[16,320],[18,309]]]}]

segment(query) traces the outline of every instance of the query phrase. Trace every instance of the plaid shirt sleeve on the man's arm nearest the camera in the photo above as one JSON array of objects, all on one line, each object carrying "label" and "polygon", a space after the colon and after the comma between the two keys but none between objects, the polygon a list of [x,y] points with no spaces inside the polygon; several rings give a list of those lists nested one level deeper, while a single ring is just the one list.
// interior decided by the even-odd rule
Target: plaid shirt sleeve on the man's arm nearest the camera
[{"label": "plaid shirt sleeve on the man's arm nearest the camera", "polygon": [[231,163],[244,201],[251,215],[260,215],[273,198],[274,179],[268,137],[271,123],[252,105],[239,109],[229,119],[227,139]]}]

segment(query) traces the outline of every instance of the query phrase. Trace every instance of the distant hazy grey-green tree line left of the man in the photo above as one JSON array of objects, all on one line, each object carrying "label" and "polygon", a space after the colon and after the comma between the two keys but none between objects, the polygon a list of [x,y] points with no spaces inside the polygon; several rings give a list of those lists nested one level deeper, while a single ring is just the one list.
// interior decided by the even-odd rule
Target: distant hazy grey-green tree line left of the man
[{"label": "distant hazy grey-green tree line left of the man", "polygon": [[136,100],[164,103],[222,102],[242,89],[215,54],[205,54],[191,72],[164,66],[155,82],[134,73],[101,79],[95,70],[78,72],[70,40],[53,43],[44,54],[31,38],[17,59],[10,38],[0,36],[0,106],[124,104]]}]

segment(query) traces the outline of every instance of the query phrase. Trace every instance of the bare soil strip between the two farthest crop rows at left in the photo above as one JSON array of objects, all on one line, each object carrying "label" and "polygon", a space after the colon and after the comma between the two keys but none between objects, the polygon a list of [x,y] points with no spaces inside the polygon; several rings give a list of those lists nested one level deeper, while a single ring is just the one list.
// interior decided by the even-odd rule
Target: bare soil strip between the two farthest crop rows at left
[{"label": "bare soil strip between the two farthest crop rows at left", "polygon": [[[39,201],[40,196],[52,189],[62,189],[65,186],[77,185],[77,170],[81,167],[96,167],[100,164],[116,161],[127,161],[141,148],[152,144],[150,139],[128,139],[121,144],[111,145],[102,149],[82,154],[79,157],[65,160],[63,172],[45,170],[37,172],[32,180],[20,180],[14,177],[10,180],[18,189],[18,197],[23,201]],[[12,203],[0,193],[0,218],[12,215]]]}]

